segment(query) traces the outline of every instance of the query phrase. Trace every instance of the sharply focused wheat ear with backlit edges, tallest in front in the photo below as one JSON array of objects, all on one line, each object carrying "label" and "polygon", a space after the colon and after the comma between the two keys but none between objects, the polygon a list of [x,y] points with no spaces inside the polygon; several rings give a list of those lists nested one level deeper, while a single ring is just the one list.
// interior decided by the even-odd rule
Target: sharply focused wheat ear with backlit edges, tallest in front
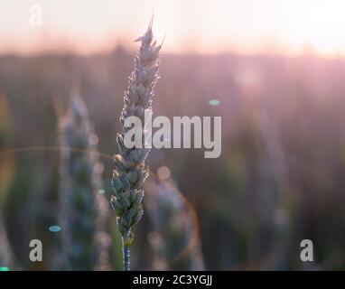
[{"label": "sharply focused wheat ear with backlit edges, tallest in front", "polygon": [[[122,132],[117,134],[120,153],[114,157],[115,170],[111,181],[114,188],[111,204],[117,213],[117,228],[123,238],[125,271],[129,270],[129,246],[134,239],[132,228],[144,213],[143,184],[148,176],[145,159],[150,149],[145,148],[145,137],[142,148],[127,148],[124,135],[130,128],[124,124],[126,117],[139,117],[141,123],[145,124],[145,111],[152,114],[154,85],[158,79],[159,52],[162,47],[162,44],[156,45],[152,28],[153,20],[145,34],[135,40],[141,42],[141,47],[135,57],[135,70],[129,78],[129,88],[125,92],[125,105],[120,117]],[[145,135],[144,130],[142,135]]]}]

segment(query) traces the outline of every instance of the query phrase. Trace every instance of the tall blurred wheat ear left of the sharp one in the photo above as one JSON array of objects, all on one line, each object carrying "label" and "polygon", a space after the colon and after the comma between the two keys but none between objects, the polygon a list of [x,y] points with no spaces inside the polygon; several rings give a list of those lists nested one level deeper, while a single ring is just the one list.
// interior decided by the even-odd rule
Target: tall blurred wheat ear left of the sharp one
[{"label": "tall blurred wheat ear left of the sharp one", "polygon": [[107,268],[107,206],[98,193],[103,166],[98,136],[88,109],[77,92],[68,113],[61,117],[61,269]]}]

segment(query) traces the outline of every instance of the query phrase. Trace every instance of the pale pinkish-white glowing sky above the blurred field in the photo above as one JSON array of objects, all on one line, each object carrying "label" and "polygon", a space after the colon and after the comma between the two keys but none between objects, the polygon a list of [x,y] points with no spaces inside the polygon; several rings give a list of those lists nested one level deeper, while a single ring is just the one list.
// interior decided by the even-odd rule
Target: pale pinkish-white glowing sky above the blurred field
[{"label": "pale pinkish-white glowing sky above the blurred field", "polygon": [[132,47],[153,11],[168,52],[345,54],[344,0],[0,0],[0,52]]}]

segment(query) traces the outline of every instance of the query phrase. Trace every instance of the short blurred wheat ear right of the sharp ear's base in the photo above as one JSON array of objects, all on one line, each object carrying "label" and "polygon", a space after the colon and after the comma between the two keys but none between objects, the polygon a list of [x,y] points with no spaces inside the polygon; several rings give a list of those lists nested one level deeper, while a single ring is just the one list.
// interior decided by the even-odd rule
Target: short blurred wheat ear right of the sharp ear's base
[{"label": "short blurred wheat ear right of the sharp ear's base", "polygon": [[145,182],[145,209],[153,225],[148,235],[154,270],[204,270],[198,218],[171,180]]}]

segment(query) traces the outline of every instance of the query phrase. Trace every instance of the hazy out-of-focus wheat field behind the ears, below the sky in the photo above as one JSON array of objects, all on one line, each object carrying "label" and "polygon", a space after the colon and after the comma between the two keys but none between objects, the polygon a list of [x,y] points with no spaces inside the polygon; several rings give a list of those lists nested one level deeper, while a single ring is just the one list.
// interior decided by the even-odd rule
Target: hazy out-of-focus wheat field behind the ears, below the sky
[{"label": "hazy out-of-focus wheat field behind the ears, below the sky", "polygon": [[[67,107],[79,80],[109,194],[113,164],[104,155],[116,150],[133,55],[118,46],[85,57],[0,56],[0,222],[7,235],[1,234],[0,251],[10,245],[17,267],[52,267],[59,233],[48,228],[60,210],[60,152],[43,147],[59,146],[54,103]],[[204,267],[345,269],[345,60],[164,54],[160,74],[155,116],[222,117],[218,159],[204,159],[197,149],[153,149],[148,158],[151,172],[169,168],[171,182],[195,210]],[[136,229],[133,269],[157,267],[149,247],[157,225],[149,215]],[[115,220],[108,223],[111,266],[120,269],[120,238]],[[39,265],[27,258],[33,238],[44,246]],[[312,267],[300,260],[304,238],[314,244]],[[181,264],[174,268],[184,269]]]}]

